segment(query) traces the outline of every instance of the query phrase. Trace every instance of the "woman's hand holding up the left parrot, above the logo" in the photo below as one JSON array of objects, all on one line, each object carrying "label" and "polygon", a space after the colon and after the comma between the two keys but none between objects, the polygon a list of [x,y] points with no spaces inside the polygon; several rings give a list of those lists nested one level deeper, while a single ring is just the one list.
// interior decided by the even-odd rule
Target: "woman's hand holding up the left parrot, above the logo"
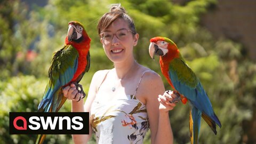
[{"label": "woman's hand holding up the left parrot, above the logo", "polygon": [[70,84],[63,89],[64,97],[72,101],[80,101],[83,98],[83,94],[79,93],[75,84]]}]

